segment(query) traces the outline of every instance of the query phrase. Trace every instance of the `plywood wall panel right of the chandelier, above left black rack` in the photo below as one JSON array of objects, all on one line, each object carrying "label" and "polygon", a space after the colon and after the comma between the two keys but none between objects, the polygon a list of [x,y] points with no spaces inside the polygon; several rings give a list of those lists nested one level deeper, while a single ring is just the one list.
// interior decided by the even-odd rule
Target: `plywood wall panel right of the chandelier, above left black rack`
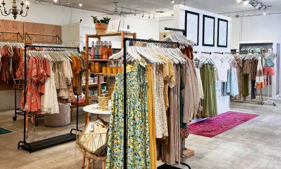
[{"label": "plywood wall panel right of the chandelier, above left black rack", "polygon": [[[23,33],[38,33],[38,34],[50,34],[58,35],[62,37],[62,26],[53,24],[37,24],[37,23],[23,23]],[[56,37],[42,36],[42,35],[30,35],[33,41],[51,41],[55,42]],[[29,39],[26,39],[27,43],[30,43]]]}]

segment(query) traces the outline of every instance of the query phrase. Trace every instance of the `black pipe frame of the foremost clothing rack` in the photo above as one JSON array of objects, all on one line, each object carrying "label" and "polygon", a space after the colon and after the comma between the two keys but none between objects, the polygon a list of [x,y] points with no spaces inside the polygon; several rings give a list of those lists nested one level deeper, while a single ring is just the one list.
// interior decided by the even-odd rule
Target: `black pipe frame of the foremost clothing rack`
[{"label": "black pipe frame of the foremost clothing rack", "polygon": [[[170,30],[170,29],[168,29]],[[133,39],[133,38],[124,38],[123,40],[123,53],[124,53],[124,56],[123,56],[123,68],[124,68],[124,81],[123,81],[123,89],[124,89],[124,96],[123,96],[123,100],[124,100],[124,105],[123,105],[123,111],[124,111],[124,137],[123,137],[123,141],[124,141],[124,162],[123,162],[123,166],[124,166],[124,169],[127,169],[127,148],[126,148],[126,143],[127,143],[127,138],[126,138],[126,133],[127,133],[127,127],[126,127],[126,124],[127,124],[127,120],[126,120],[126,108],[127,108],[127,74],[126,74],[126,42],[127,41],[135,41],[135,42],[147,42],[147,43],[157,43],[157,44],[173,44],[173,45],[177,45],[177,48],[179,48],[179,43],[178,42],[165,42],[165,41],[154,41],[154,40],[147,40],[147,39]],[[188,164],[185,164],[185,163],[180,163],[184,166],[187,166],[189,169],[190,166]],[[169,166],[167,164],[164,164],[164,166],[167,166],[167,169],[180,169],[180,168],[177,168],[177,167],[173,167],[173,166]]]}]

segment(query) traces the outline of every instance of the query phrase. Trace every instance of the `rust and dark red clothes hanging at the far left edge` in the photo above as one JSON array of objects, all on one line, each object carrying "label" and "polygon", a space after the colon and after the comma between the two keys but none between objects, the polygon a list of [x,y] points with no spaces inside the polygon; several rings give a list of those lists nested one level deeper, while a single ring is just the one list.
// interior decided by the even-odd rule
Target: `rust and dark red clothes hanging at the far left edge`
[{"label": "rust and dark red clothes hanging at the far left edge", "polygon": [[16,72],[20,66],[22,43],[0,42],[0,81],[7,82],[16,78]]}]

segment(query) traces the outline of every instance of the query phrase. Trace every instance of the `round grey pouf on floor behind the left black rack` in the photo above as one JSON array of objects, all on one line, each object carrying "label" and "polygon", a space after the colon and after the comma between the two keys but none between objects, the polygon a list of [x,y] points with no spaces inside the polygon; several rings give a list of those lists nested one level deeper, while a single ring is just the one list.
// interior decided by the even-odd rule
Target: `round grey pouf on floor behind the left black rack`
[{"label": "round grey pouf on floor behind the left black rack", "polygon": [[61,104],[59,114],[45,114],[44,123],[47,127],[61,127],[70,124],[71,104]]}]

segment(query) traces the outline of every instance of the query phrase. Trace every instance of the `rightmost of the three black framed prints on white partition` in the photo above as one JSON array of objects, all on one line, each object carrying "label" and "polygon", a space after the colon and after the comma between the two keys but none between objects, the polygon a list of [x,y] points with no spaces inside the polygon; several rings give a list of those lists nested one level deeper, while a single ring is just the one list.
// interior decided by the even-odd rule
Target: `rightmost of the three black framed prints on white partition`
[{"label": "rightmost of the three black framed prints on white partition", "polygon": [[227,48],[228,21],[217,19],[217,47]]}]

